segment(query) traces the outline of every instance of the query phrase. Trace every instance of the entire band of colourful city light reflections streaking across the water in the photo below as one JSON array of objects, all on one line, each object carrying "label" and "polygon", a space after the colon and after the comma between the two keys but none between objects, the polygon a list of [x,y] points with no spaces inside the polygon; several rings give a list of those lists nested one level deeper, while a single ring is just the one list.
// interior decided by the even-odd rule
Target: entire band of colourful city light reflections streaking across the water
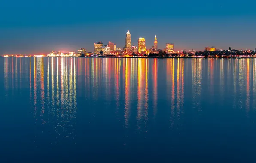
[{"label": "entire band of colourful city light reflections streaking across the water", "polygon": [[[125,127],[135,126],[133,121],[136,119],[136,126],[141,130],[148,128],[146,126],[151,123],[148,120],[152,117],[156,119],[152,123],[157,123],[162,112],[168,112],[172,129],[178,126],[184,116],[184,102],[188,99],[192,100],[196,110],[202,109],[203,100],[213,104],[231,102],[235,108],[244,106],[247,112],[255,104],[256,62],[252,59],[178,58],[163,62],[150,58],[3,60],[6,97],[22,91],[26,85],[36,124],[54,124],[56,134],[61,136],[72,135],[76,103],[81,99],[85,100],[82,101],[84,106],[92,101],[100,101],[106,107],[112,105],[115,116]],[[162,92],[161,88],[166,91]],[[207,97],[204,97],[205,90],[210,91]],[[234,95],[227,96],[226,90]],[[165,97],[166,101],[161,99]],[[161,107],[162,103],[168,104],[168,111]],[[67,129],[63,130],[64,127]]]}]

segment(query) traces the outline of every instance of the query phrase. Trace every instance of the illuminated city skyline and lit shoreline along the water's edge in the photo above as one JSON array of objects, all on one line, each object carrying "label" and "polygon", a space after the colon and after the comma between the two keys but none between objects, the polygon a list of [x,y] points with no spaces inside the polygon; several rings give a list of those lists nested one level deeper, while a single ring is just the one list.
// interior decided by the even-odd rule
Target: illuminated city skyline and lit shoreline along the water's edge
[{"label": "illuminated city skyline and lit shoreline along the water's edge", "polygon": [[196,57],[196,58],[241,58],[256,57],[256,49],[235,50],[231,47],[228,50],[216,49],[215,47],[205,47],[204,51],[194,49],[174,51],[174,43],[166,43],[165,49],[158,49],[158,40],[155,35],[151,48],[146,48],[146,40],[138,38],[138,46],[131,45],[131,33],[128,30],[125,35],[125,47],[120,48],[111,41],[107,45],[103,42],[94,43],[93,52],[87,52],[85,48],[80,48],[76,52],[52,51],[50,54],[4,54],[1,57]]}]

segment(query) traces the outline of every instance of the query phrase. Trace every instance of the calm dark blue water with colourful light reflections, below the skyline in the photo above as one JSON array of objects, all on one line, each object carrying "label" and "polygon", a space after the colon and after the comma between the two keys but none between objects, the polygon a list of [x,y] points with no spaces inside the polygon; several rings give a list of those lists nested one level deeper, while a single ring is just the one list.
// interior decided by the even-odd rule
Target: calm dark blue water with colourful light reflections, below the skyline
[{"label": "calm dark blue water with colourful light reflections, below the skyline", "polygon": [[255,162],[256,60],[0,58],[0,162]]}]

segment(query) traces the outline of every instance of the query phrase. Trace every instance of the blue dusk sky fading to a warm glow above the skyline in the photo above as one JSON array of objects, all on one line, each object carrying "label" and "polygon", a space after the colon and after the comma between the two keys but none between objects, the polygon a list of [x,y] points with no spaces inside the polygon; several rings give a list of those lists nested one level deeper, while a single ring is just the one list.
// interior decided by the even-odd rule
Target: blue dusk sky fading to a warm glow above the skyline
[{"label": "blue dusk sky fading to a warm glow above the skyline", "polygon": [[94,42],[125,46],[157,35],[175,51],[256,48],[253,0],[1,0],[0,54],[93,51]]}]

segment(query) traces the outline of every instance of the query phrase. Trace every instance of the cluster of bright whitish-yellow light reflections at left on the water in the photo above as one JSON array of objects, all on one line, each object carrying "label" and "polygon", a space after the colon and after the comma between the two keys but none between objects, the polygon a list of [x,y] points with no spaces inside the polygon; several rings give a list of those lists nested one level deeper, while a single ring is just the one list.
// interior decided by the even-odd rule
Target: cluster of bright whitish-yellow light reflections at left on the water
[{"label": "cluster of bright whitish-yellow light reflections at left on the water", "polygon": [[[34,67],[31,67],[33,61]],[[56,142],[60,141],[59,137],[73,137],[73,121],[76,118],[76,59],[34,58],[28,66],[35,125],[52,125],[58,135]]]}]

